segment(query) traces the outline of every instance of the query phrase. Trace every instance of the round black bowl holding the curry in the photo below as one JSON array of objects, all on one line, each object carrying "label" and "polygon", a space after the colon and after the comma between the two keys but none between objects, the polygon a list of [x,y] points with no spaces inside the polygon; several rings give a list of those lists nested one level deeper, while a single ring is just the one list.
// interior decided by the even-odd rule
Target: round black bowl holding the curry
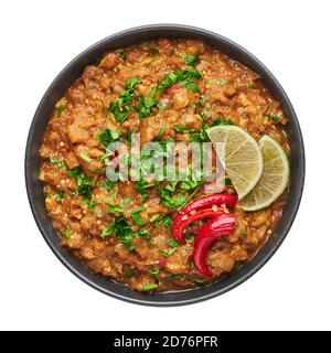
[{"label": "round black bowl holding the curry", "polygon": [[[289,120],[286,131],[291,149],[291,180],[284,215],[277,228],[257,256],[242,269],[204,288],[146,296],[124,285],[93,274],[60,245],[60,237],[54,231],[45,208],[43,186],[39,181],[39,149],[55,103],[64,95],[74,81],[82,75],[86,65],[100,57],[107,51],[157,38],[189,38],[205,41],[260,75],[261,82],[271,95],[280,101],[281,109]],[[74,275],[93,288],[118,299],[148,306],[180,306],[206,300],[231,290],[254,275],[275,254],[289,232],[300,204],[303,181],[305,149],[299,122],[286,93],[273,74],[254,55],[228,39],[202,29],[180,24],[153,24],[130,29],[102,40],[75,57],[53,81],[44,94],[32,120],[25,151],[25,182],[30,205],[35,222],[54,254]]]}]

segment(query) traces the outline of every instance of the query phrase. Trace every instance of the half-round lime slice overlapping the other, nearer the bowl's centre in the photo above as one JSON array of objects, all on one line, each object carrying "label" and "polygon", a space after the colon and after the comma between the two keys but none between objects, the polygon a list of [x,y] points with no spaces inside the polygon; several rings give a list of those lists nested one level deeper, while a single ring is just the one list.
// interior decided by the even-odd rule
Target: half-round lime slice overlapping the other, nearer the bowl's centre
[{"label": "half-round lime slice overlapping the other, nearer the bowl's centre", "polygon": [[263,172],[258,143],[237,126],[215,126],[207,129],[206,133],[238,193],[238,199],[243,199],[256,185]]}]

